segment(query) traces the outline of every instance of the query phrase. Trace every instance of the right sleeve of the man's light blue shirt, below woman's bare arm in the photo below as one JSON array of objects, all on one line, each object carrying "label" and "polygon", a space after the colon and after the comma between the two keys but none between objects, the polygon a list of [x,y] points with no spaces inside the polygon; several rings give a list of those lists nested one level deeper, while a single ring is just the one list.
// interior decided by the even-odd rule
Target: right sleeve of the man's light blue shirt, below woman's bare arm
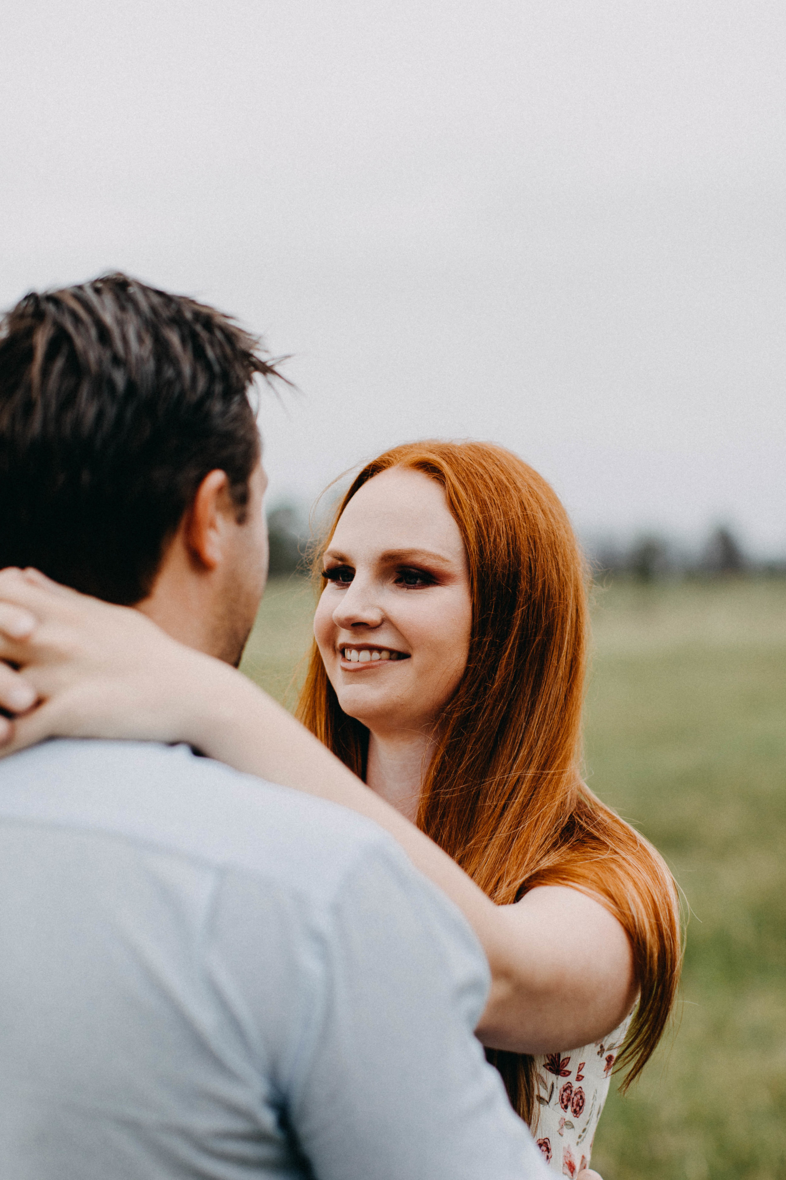
[{"label": "right sleeve of the man's light blue shirt, below woman's bare arm", "polygon": [[289,1115],[319,1180],[542,1180],[474,1029],[488,965],[463,916],[397,848],[343,884]]}]

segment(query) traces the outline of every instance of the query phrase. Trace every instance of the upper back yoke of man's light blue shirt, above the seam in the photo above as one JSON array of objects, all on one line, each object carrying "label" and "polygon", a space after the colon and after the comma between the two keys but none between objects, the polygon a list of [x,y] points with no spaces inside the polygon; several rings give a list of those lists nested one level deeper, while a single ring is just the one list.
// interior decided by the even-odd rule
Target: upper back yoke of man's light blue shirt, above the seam
[{"label": "upper back yoke of man's light blue shirt, above the seam", "polygon": [[369,856],[399,859],[385,832],[344,807],[156,742],[58,740],[0,761],[4,819],[316,887],[325,900]]}]

